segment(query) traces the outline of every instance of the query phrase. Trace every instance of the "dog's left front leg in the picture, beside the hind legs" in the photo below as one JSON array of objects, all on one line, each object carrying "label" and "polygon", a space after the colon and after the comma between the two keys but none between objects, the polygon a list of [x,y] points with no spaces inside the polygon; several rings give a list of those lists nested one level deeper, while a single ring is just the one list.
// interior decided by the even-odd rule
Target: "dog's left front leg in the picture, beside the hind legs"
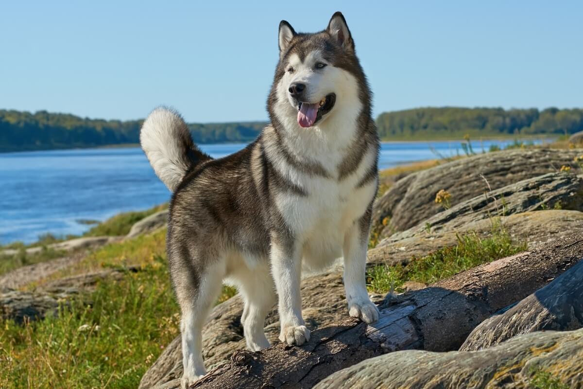
[{"label": "dog's left front leg in the picture, beside the hind legs", "polygon": [[301,317],[301,250],[290,237],[272,236],[271,266],[279,297],[279,340],[289,345],[303,345],[310,340],[310,330]]}]

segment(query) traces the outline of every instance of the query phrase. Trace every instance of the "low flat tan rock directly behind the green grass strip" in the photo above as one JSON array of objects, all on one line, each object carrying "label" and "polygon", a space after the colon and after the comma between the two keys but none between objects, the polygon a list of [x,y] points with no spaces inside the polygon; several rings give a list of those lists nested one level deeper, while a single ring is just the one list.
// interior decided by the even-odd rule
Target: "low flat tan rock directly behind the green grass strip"
[{"label": "low flat tan rock directly behind the green grass strip", "polygon": [[[570,234],[583,236],[583,212],[568,210],[547,210],[516,213],[496,218],[510,234],[515,243],[526,242],[529,248],[545,246],[553,240]],[[389,266],[406,265],[412,258],[420,258],[442,247],[455,246],[458,234],[477,233],[480,237],[489,237],[492,233],[492,220],[483,219],[469,222],[453,231],[419,233],[399,239],[401,234],[382,240],[377,247],[368,250],[369,264],[387,264]]]}]

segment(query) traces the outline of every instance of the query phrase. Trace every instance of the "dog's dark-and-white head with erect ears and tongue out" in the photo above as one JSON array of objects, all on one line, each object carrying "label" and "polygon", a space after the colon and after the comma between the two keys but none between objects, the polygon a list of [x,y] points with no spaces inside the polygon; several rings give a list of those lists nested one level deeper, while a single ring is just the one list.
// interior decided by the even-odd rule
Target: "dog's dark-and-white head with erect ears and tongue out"
[{"label": "dog's dark-and-white head with erect ears and tongue out", "polygon": [[269,98],[269,114],[300,127],[321,125],[339,112],[356,116],[368,101],[366,78],[342,13],[319,33],[296,33],[279,23],[279,64]]}]

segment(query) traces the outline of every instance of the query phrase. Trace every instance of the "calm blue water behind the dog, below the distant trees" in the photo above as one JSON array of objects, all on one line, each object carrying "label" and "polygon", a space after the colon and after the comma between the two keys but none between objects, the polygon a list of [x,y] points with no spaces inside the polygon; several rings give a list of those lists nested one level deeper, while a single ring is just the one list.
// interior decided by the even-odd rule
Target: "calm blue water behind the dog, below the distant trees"
[{"label": "calm blue water behind the dog, below the distant trees", "polygon": [[[463,154],[459,141],[392,142],[381,146],[380,168]],[[472,142],[476,152],[512,141]],[[540,143],[540,141],[539,141]],[[202,145],[213,157],[245,145]],[[0,243],[33,242],[39,234],[80,234],[80,219],[104,220],[150,208],[170,192],[139,148],[0,153]]]}]

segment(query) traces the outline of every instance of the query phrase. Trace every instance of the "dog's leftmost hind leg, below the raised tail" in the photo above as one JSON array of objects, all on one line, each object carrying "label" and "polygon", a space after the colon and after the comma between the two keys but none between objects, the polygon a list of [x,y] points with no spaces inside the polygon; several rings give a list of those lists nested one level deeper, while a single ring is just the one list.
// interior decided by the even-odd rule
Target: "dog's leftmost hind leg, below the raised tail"
[{"label": "dog's leftmost hind leg, below the raised tail", "polygon": [[219,296],[225,274],[223,258],[206,261],[206,267],[200,272],[191,263],[186,260],[178,266],[174,263],[172,269],[174,288],[182,311],[182,388],[187,388],[206,374],[202,359],[202,327]]}]

